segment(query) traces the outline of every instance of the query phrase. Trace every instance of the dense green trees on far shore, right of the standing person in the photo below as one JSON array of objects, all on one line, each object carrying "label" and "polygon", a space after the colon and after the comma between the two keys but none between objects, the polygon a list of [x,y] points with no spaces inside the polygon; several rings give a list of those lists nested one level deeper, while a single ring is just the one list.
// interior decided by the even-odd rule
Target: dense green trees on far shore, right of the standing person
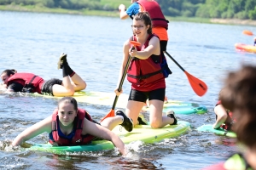
[{"label": "dense green trees on far shore, right of the standing person", "polygon": [[256,20],[256,0],[158,0],[166,15]]}]

